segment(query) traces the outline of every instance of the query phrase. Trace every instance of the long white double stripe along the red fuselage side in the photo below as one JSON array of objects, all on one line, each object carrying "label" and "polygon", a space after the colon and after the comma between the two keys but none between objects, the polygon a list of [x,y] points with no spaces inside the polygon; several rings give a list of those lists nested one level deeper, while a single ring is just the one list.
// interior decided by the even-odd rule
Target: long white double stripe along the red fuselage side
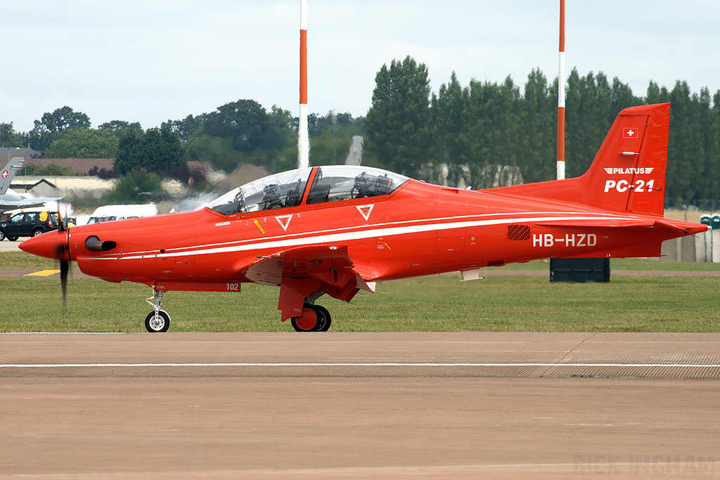
[{"label": "long white double stripe along the red fuselage side", "polygon": [[[138,259],[143,255],[153,255],[157,258],[172,258],[179,256],[207,255],[210,253],[243,252],[248,250],[286,249],[305,245],[343,243],[351,240],[366,240],[372,237],[392,237],[410,233],[429,232],[433,230],[452,230],[463,227],[485,227],[490,225],[516,224],[526,222],[547,222],[547,221],[572,221],[572,220],[627,220],[629,217],[621,217],[612,214],[573,215],[565,212],[528,212],[528,217],[508,217],[494,219],[477,219],[477,217],[497,217],[498,214],[468,215],[465,217],[446,217],[443,219],[420,219],[405,222],[394,222],[378,225],[359,225],[356,227],[342,227],[333,230],[318,230],[292,235],[269,237],[267,239],[252,238],[248,240],[233,240],[226,243],[215,243],[208,245],[192,245],[187,248],[178,248],[174,251],[159,253],[158,250],[137,252],[121,257],[107,255],[109,258]],[[532,217],[531,215],[548,215],[545,217]],[[459,219],[474,217],[474,220]],[[640,219],[640,217],[630,217]],[[442,220],[454,220],[442,222]],[[429,222],[429,223],[426,223]],[[405,224],[405,225],[403,225]],[[258,241],[259,240],[259,241]]]}]

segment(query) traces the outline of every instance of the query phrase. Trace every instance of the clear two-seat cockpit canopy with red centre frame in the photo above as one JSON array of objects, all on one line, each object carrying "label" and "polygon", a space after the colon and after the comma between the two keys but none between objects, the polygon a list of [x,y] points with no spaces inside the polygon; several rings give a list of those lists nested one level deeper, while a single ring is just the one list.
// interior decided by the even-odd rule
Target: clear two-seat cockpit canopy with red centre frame
[{"label": "clear two-seat cockpit canopy with red centre frame", "polygon": [[[305,196],[308,181],[310,191]],[[391,194],[408,177],[379,168],[325,166],[301,168],[269,175],[228,191],[212,201],[209,208],[222,214],[320,204],[326,201],[361,199]]]}]

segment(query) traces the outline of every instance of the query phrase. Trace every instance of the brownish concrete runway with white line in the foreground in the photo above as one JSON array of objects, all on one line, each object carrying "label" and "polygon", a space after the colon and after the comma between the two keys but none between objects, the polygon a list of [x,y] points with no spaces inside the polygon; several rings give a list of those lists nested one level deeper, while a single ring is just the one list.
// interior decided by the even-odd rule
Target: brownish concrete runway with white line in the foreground
[{"label": "brownish concrete runway with white line in the foreground", "polygon": [[720,334],[0,335],[0,478],[714,479]]}]

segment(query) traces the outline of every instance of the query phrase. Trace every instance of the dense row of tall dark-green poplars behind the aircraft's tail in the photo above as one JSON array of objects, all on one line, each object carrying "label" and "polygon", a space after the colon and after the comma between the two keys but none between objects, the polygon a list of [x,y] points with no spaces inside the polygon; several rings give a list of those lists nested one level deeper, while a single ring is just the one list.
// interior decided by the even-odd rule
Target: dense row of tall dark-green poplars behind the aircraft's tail
[{"label": "dense row of tall dark-green poplars behind the aircraft's tail", "polygon": [[[455,74],[431,94],[428,70],[413,58],[393,60],[376,76],[366,117],[367,148],[390,168],[427,181],[474,189],[552,180],[557,164],[557,78],[539,69],[524,88]],[[587,171],[616,115],[626,107],[669,101],[666,201],[702,204],[720,198],[720,90],[693,94],[685,81],[672,90],[649,82],[635,96],[617,77],[599,72],[567,78],[566,176]]]}]

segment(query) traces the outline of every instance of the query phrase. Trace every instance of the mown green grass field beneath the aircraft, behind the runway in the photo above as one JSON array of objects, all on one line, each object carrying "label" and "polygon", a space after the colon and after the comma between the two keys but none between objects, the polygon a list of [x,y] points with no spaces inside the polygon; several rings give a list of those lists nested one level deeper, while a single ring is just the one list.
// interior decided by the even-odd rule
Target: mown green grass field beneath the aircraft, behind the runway
[{"label": "mown green grass field beneath the aircraft, behind the runway", "polygon": [[[0,270],[55,268],[25,253],[0,253]],[[542,261],[503,267],[547,270]],[[720,270],[706,263],[613,260],[612,270]],[[145,285],[71,278],[68,307],[57,278],[0,280],[0,332],[144,332]],[[278,289],[243,284],[240,294],[169,292],[171,331],[292,331],[279,322]],[[350,304],[323,296],[332,331],[717,332],[720,277],[612,276],[609,284],[550,283],[548,276],[460,282],[428,276],[385,282]]]}]

